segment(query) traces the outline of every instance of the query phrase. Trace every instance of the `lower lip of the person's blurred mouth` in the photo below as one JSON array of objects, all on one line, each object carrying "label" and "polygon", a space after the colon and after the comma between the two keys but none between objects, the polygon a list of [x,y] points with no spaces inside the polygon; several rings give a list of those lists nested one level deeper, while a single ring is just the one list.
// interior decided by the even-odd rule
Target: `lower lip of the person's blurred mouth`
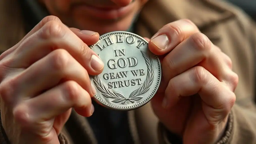
[{"label": "lower lip of the person's blurred mouth", "polygon": [[118,19],[120,17],[127,15],[129,12],[131,12],[134,4],[135,3],[133,2],[119,9],[108,9],[108,10],[89,6],[89,5],[79,5],[76,7],[76,11],[79,12],[80,14],[86,13],[92,17],[97,17],[100,19]]}]

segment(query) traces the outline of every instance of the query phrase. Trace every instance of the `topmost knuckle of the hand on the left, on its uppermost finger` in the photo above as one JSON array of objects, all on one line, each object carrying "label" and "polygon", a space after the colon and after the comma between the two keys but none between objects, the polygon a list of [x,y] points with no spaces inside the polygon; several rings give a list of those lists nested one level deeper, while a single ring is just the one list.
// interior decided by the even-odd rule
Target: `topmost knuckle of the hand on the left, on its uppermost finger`
[{"label": "topmost knuckle of the hand on the left, on its uppermost finger", "polygon": [[51,20],[41,28],[39,35],[43,39],[62,38],[65,35],[65,30],[62,23]]}]

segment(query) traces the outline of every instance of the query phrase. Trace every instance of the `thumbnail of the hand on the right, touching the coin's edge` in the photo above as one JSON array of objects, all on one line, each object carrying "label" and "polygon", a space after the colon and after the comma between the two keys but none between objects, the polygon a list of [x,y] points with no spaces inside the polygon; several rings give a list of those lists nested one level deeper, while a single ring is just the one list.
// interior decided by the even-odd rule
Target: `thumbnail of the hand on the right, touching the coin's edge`
[{"label": "thumbnail of the hand on the right, touching the coin's edge", "polygon": [[170,41],[167,35],[159,35],[151,40],[151,42],[156,45],[159,49],[165,49]]}]

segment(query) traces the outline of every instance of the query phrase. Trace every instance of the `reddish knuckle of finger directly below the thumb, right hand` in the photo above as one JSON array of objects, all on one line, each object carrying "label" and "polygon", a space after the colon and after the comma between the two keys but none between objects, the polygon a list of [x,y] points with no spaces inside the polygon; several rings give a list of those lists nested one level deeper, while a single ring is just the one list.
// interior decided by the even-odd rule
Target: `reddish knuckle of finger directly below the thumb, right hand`
[{"label": "reddish knuckle of finger directly below the thumb, right hand", "polygon": [[191,36],[191,41],[194,45],[194,48],[199,51],[210,51],[211,50],[211,41],[209,38],[202,33],[195,33]]}]

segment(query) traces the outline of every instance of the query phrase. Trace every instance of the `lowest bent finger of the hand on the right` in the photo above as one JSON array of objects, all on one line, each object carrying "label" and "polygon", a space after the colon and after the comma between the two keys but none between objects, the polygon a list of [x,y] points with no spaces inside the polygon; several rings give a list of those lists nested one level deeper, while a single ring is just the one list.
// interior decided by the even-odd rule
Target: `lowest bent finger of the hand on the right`
[{"label": "lowest bent finger of the hand on the right", "polygon": [[[179,98],[199,94],[208,119],[224,118],[231,110],[236,96],[228,86],[220,82],[205,68],[197,66],[172,78],[165,91],[163,107],[170,108]],[[218,114],[217,114],[218,113]],[[212,116],[222,117],[212,117]],[[220,119],[218,119],[220,118]]]}]

